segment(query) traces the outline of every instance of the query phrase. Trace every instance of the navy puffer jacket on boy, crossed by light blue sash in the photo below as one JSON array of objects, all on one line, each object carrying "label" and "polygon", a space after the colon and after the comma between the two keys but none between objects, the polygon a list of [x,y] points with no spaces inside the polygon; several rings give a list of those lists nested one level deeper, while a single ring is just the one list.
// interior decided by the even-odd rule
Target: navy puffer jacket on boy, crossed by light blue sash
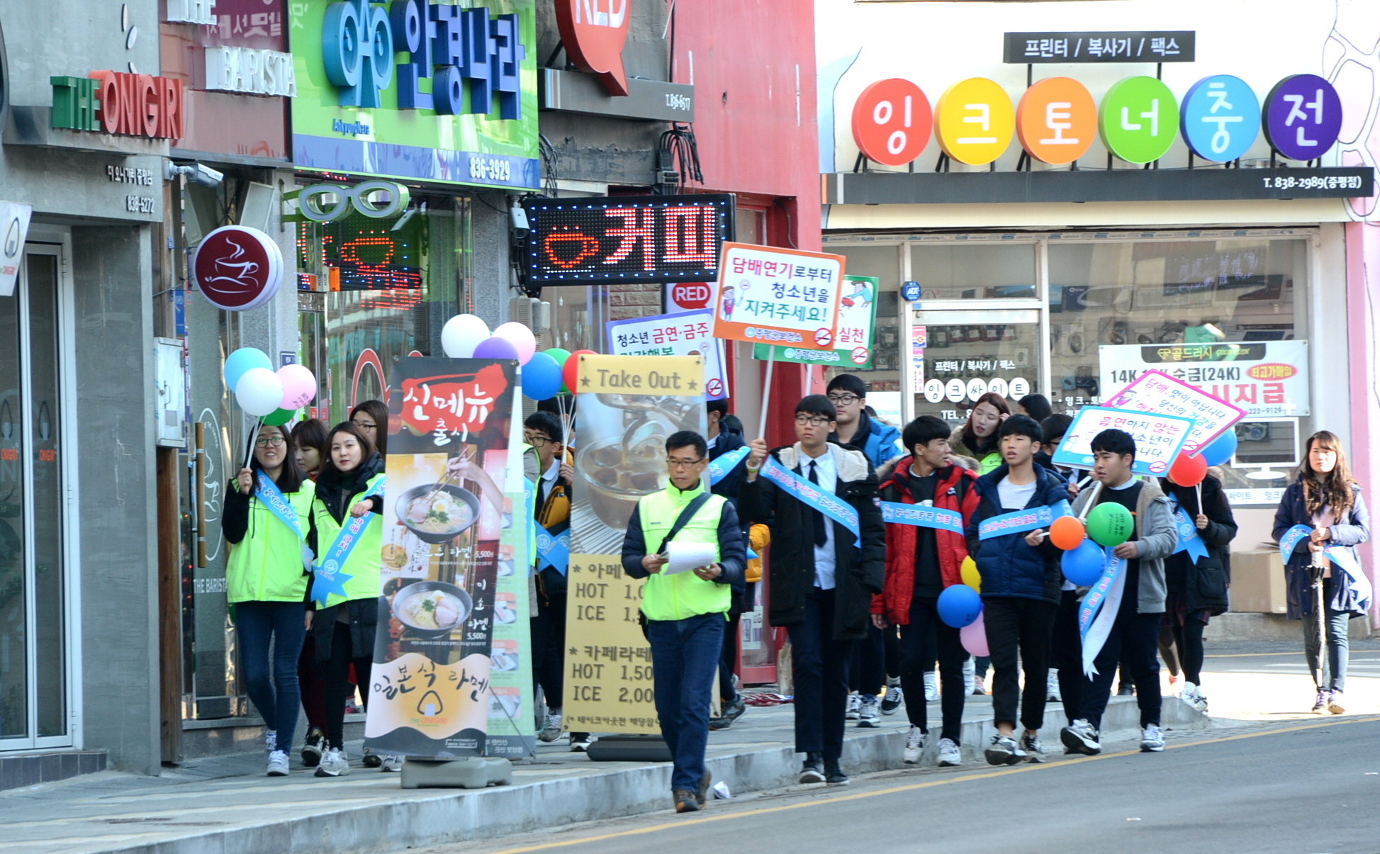
[{"label": "navy puffer jacket on boy, crossed by light blue sash", "polygon": [[[1043,599],[1057,604],[1064,577],[1058,571],[1060,552],[1045,538],[1038,548],[1025,542],[1029,531],[1000,534],[989,539],[977,538],[977,527],[984,519],[1000,516],[1002,499],[996,484],[1006,477],[1009,466],[1003,462],[977,479],[978,505],[967,526],[967,552],[977,563],[983,577],[983,599],[989,596],[1010,596],[1016,599]],[[1063,477],[1035,466],[1035,494],[1021,509],[1053,506],[1068,501],[1068,484]],[[1047,531],[1047,528],[1046,528]]]}]

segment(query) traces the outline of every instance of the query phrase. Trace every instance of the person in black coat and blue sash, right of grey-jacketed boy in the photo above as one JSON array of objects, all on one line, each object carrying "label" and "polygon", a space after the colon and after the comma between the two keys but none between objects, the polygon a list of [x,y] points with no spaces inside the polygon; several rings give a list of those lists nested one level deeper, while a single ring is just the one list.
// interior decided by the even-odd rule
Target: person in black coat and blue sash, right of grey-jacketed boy
[{"label": "person in black coat and blue sash, right of grey-jacketed boy", "polygon": [[1179,531],[1174,553],[1165,557],[1167,595],[1159,628],[1161,654],[1165,653],[1167,630],[1172,648],[1165,661],[1169,664],[1177,658],[1184,676],[1179,698],[1199,712],[1206,712],[1208,697],[1202,690],[1203,630],[1212,617],[1227,613],[1231,541],[1236,537],[1236,517],[1227,502],[1221,480],[1212,475],[1203,477],[1198,487],[1179,486],[1172,477],[1162,477],[1159,483],[1169,497]]}]

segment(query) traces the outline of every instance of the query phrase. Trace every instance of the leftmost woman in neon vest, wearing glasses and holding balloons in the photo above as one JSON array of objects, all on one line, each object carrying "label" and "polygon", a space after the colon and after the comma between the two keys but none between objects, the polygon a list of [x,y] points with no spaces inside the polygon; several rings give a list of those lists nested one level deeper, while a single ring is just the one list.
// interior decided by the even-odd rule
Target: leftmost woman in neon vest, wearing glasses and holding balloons
[{"label": "leftmost woman in neon vest, wearing glasses and holding balloons", "polygon": [[[268,774],[287,775],[301,690],[297,658],[306,637],[309,516],[316,484],[306,479],[282,426],[261,426],[250,468],[230,481],[221,530],[230,544],[225,566],[235,608],[244,682],[268,724]],[[269,643],[273,646],[269,679]]]}]

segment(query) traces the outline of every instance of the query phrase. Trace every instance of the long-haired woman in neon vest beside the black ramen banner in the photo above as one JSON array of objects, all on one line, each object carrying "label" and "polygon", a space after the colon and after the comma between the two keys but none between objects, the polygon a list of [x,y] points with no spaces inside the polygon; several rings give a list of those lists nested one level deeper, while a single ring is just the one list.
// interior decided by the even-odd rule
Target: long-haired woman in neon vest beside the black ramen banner
[{"label": "long-haired woman in neon vest beside the black ramen banner", "polygon": [[[349,668],[355,665],[364,708],[368,708],[368,672],[374,661],[374,626],[378,624],[378,590],[382,555],[384,509],[378,491],[384,479],[384,458],[359,426],[342,421],[331,429],[326,443],[330,457],[316,477],[316,501],[312,502],[312,524],[316,526],[317,564],[331,550],[341,528],[352,517],[364,517],[357,545],[349,552],[341,573],[345,595],[331,593],[326,606],[316,611],[312,637],[316,642],[316,661],[326,671],[326,742],[327,751],[316,767],[317,777],[339,777],[349,773],[345,755],[345,698],[352,693]],[[400,760],[384,759],[384,770],[396,771]]]}]

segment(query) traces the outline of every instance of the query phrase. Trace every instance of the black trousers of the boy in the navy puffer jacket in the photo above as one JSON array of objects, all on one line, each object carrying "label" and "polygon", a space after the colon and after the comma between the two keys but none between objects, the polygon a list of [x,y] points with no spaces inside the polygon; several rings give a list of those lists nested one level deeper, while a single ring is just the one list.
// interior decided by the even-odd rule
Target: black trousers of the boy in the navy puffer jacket
[{"label": "black trousers of the boy in the navy puffer jacket", "polygon": [[[1016,702],[1020,699],[1020,722],[1027,730],[1039,730],[1045,723],[1045,702],[1049,699],[1049,646],[1054,626],[1053,602],[992,596],[983,600],[983,622],[987,625],[987,647],[991,650],[992,715],[994,723],[1016,726]],[[1025,671],[1025,691],[1021,694],[1020,671]]]}]

